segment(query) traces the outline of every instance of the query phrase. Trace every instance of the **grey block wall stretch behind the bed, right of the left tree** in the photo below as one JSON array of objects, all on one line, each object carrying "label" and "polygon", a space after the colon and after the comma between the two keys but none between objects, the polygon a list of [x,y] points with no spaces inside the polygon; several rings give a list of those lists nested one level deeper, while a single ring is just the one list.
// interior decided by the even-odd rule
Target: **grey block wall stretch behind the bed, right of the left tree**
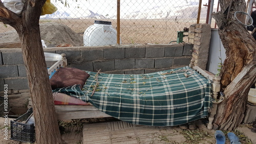
[{"label": "grey block wall stretch behind the bed, right of the left tree", "polygon": [[148,44],[49,48],[65,53],[68,66],[109,74],[145,74],[188,65],[192,44]]}]

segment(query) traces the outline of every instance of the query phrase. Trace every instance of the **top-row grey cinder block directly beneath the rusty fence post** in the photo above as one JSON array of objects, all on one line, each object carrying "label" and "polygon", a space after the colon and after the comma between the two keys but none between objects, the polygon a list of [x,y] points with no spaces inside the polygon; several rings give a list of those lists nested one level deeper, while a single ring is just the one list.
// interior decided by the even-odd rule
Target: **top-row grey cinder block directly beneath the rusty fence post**
[{"label": "top-row grey cinder block directly beneath the rusty fence post", "polygon": [[118,47],[111,47],[104,49],[104,58],[107,60],[111,59],[124,59],[125,49]]}]

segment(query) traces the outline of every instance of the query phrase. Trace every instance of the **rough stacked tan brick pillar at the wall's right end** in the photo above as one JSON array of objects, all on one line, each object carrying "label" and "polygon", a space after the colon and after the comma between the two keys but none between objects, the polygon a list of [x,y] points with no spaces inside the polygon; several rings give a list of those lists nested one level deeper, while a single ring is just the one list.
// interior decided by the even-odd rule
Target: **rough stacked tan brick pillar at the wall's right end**
[{"label": "rough stacked tan brick pillar at the wall's right end", "polygon": [[206,69],[208,62],[208,52],[210,46],[211,28],[209,24],[194,24],[189,27],[188,43],[194,45],[193,59],[195,65]]}]

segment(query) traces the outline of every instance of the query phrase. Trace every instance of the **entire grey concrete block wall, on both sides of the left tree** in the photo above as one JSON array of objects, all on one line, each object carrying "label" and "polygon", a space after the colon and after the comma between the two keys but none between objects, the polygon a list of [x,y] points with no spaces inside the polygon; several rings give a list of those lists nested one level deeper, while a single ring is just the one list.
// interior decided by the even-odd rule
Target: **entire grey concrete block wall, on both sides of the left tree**
[{"label": "entire grey concrete block wall, on both sides of the left tree", "polygon": [[[188,65],[193,44],[52,47],[44,51],[65,53],[68,67],[140,75]],[[30,92],[21,49],[0,49],[0,96],[4,95],[4,84],[8,84],[12,112],[25,113]]]}]

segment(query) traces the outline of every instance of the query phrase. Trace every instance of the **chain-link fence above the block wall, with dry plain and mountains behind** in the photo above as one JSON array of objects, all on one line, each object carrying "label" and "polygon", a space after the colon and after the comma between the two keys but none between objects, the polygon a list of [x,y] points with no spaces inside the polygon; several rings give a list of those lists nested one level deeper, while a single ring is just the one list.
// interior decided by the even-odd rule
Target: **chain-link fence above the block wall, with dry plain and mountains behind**
[{"label": "chain-link fence above the block wall, with dry plain and mountains behind", "polygon": [[[208,1],[203,0],[202,4]],[[42,23],[61,23],[83,36],[95,20],[111,21],[117,28],[117,1],[102,0],[52,0],[57,11],[40,17]],[[207,7],[200,12],[200,23],[205,23]],[[215,4],[216,5],[216,4]],[[177,31],[197,23],[199,0],[130,0],[120,1],[121,44],[170,43],[177,40]],[[216,6],[215,9],[216,10]],[[10,26],[0,25],[0,37],[11,31]],[[186,35],[186,33],[184,33]],[[15,42],[13,36],[0,40],[0,43]],[[2,39],[2,38],[0,38]],[[187,41],[186,37],[182,39]],[[83,46],[82,44],[80,46]]]}]

